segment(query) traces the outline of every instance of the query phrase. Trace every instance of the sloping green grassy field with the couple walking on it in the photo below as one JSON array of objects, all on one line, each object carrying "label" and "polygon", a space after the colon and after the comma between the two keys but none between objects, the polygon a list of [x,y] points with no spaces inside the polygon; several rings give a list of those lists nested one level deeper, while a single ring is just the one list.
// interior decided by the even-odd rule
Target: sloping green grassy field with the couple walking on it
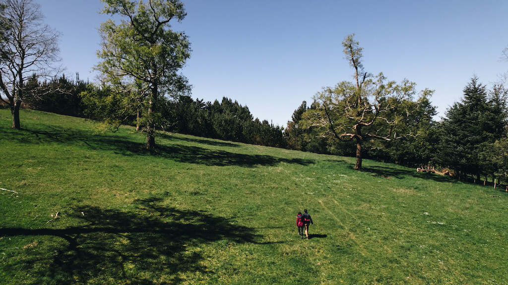
[{"label": "sloping green grassy field with the couple walking on it", "polygon": [[0,110],[0,284],[508,284],[508,196],[490,187],[180,134],[147,151],[132,128],[35,111],[23,130],[10,120]]}]

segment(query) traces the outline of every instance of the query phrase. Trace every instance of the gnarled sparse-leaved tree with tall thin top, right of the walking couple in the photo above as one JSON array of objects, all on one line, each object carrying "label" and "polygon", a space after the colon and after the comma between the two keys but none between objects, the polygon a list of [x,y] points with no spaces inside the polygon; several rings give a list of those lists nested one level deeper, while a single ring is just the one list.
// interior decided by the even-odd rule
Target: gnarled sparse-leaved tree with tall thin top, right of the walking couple
[{"label": "gnarled sparse-leaved tree with tall thin top, right of the walking couple", "polygon": [[[342,81],[335,87],[323,88],[315,96],[319,112],[313,125],[319,126],[326,137],[356,142],[355,169],[362,167],[362,147],[373,139],[393,140],[414,135],[405,123],[414,112],[412,99],[415,83],[404,80],[401,84],[386,80],[380,73],[372,76],[363,69],[363,48],[348,35],[342,42],[344,54],[354,69],[354,82]],[[421,96],[433,91],[424,90]]]}]

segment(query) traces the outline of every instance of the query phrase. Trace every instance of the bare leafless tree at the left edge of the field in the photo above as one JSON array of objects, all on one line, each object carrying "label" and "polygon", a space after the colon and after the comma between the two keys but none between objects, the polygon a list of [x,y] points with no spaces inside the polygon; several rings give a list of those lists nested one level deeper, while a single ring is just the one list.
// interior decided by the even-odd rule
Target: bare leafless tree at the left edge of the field
[{"label": "bare leafless tree at the left edge of the field", "polygon": [[58,57],[59,32],[43,23],[40,6],[33,0],[0,0],[0,21],[5,27],[0,42],[0,100],[9,105],[12,128],[20,129],[19,108],[25,81],[36,75],[49,76]]}]

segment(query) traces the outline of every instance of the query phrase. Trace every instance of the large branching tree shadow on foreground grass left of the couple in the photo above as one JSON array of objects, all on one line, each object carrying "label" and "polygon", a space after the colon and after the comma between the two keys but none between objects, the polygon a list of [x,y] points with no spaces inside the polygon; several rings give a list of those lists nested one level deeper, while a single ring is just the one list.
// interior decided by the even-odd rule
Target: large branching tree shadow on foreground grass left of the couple
[{"label": "large branching tree shadow on foreground grass left of the couple", "polygon": [[[261,243],[263,237],[228,219],[137,201],[136,212],[76,208],[66,217],[83,226],[64,229],[0,229],[0,236],[38,236],[38,246],[15,267],[38,276],[33,283],[172,284],[186,273],[213,274],[201,246],[224,241],[230,246]],[[213,256],[211,256],[213,258]],[[4,270],[9,270],[5,268]]]}]

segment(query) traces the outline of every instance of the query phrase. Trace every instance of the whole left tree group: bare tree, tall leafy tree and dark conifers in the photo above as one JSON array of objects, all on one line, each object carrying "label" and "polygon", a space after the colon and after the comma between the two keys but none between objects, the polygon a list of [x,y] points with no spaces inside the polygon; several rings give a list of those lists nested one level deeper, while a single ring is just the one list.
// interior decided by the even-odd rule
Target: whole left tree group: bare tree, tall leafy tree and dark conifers
[{"label": "whole left tree group: bare tree, tall leafy tree and dark conifers", "polygon": [[184,32],[170,23],[186,15],[179,0],[102,0],[101,11],[121,18],[102,23],[98,85],[56,74],[59,33],[42,21],[33,0],[0,0],[0,101],[11,109],[15,129],[19,109],[79,116],[104,128],[136,125],[155,147],[155,130],[167,130],[273,147],[285,147],[282,127],[253,119],[248,108],[223,98],[193,100],[190,84],[178,73],[190,56]]}]

